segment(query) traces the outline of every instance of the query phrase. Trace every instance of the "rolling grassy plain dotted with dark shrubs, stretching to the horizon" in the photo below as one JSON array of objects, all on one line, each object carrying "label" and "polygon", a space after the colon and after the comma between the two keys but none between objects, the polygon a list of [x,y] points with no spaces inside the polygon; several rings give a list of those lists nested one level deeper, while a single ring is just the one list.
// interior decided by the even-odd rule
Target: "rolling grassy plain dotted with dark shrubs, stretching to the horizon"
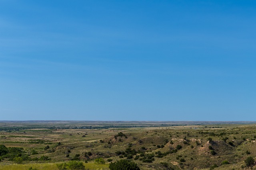
[{"label": "rolling grassy plain dotted with dark shrubs, stretching to the horizon", "polygon": [[58,123],[0,123],[0,170],[58,170],[75,161],[108,170],[120,159],[141,170],[256,169],[255,124]]}]

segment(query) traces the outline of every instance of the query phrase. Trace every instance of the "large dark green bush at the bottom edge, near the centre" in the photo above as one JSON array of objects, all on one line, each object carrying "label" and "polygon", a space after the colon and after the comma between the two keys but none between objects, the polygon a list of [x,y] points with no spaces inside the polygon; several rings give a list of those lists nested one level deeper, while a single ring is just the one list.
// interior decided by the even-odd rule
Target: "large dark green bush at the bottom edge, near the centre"
[{"label": "large dark green bush at the bottom edge, near the centre", "polygon": [[116,162],[111,162],[109,164],[110,170],[140,170],[135,162],[120,159]]}]

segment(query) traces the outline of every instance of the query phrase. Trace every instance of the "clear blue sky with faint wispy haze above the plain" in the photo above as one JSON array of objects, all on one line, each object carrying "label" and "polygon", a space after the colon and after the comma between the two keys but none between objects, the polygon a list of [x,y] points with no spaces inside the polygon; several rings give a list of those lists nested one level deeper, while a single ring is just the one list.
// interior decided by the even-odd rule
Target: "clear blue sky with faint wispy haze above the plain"
[{"label": "clear blue sky with faint wispy haze above the plain", "polygon": [[0,120],[256,121],[256,1],[0,0]]}]

